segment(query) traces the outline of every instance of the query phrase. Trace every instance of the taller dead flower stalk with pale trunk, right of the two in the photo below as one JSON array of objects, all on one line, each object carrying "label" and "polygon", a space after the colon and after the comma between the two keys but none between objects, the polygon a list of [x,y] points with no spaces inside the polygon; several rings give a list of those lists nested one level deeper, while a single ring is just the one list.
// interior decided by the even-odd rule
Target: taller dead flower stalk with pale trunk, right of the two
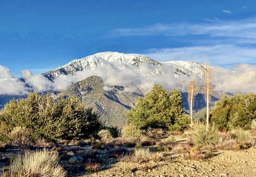
[{"label": "taller dead flower stalk with pale trunk, right of the two", "polygon": [[205,62],[205,70],[203,74],[203,95],[207,104],[206,113],[206,129],[209,128],[209,103],[211,100],[213,84],[212,84],[212,68],[209,66],[208,60]]}]

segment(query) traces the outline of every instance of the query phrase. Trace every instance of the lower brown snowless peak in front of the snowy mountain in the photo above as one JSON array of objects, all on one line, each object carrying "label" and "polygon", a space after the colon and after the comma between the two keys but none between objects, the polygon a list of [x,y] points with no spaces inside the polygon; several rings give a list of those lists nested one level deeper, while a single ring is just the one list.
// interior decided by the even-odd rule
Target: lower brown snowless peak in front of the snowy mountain
[{"label": "lower brown snowless peak in front of the snowy mountain", "polygon": [[144,93],[139,89],[124,92],[123,86],[105,85],[102,78],[91,76],[57,94],[58,97],[71,95],[97,111],[106,125],[121,126],[126,122],[125,113],[135,106],[138,98],[143,97]]}]

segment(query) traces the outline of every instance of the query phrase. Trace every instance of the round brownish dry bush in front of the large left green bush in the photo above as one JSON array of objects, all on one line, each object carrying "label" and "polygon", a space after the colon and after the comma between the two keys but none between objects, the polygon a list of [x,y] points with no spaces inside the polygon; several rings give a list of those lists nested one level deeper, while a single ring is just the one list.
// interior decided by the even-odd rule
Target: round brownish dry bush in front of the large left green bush
[{"label": "round brownish dry bush in front of the large left green bush", "polygon": [[14,146],[19,147],[21,151],[33,146],[35,142],[33,131],[25,127],[15,127],[9,133],[9,140]]}]

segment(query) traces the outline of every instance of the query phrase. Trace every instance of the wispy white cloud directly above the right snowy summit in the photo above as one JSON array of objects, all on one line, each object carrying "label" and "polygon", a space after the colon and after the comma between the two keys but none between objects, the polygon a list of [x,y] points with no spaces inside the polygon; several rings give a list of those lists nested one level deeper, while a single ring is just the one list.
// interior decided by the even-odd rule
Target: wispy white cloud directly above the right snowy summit
[{"label": "wispy white cloud directly above the right snowy summit", "polygon": [[256,49],[234,45],[150,49],[144,55],[158,61],[197,61],[208,58],[212,65],[256,64]]}]

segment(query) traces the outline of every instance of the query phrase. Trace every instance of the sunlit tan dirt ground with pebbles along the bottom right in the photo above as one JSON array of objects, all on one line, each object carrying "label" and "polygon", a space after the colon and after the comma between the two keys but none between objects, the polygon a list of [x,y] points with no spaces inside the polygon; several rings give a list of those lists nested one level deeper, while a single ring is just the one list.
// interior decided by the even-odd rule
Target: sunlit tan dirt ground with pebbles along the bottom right
[{"label": "sunlit tan dirt ground with pebbles along the bottom right", "polygon": [[153,166],[147,171],[136,170],[136,164],[118,162],[109,169],[81,177],[149,176],[149,177],[240,177],[256,176],[256,149],[241,151],[216,151],[206,161],[184,160],[171,157],[162,162],[149,162]]}]

